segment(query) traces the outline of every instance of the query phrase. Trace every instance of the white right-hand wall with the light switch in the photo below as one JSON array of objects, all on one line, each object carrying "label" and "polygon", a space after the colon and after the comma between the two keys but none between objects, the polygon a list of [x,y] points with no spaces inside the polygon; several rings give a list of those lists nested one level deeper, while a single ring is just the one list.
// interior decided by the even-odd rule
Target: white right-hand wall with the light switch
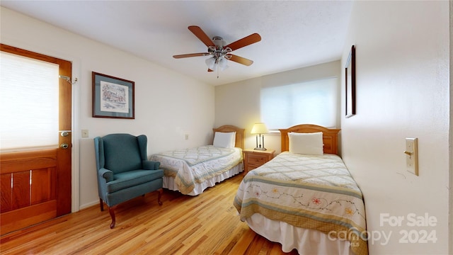
[{"label": "white right-hand wall with the light switch", "polygon": [[[449,1],[356,1],[347,38],[343,66],[356,45],[357,115],[341,122],[343,160],[365,196],[369,254],[447,254]],[[406,171],[406,137],[418,137],[419,176]],[[385,213],[403,217],[401,226],[382,221]],[[410,226],[411,213],[437,223]],[[404,232],[414,244],[401,243]],[[423,232],[437,242],[421,243]]]}]

